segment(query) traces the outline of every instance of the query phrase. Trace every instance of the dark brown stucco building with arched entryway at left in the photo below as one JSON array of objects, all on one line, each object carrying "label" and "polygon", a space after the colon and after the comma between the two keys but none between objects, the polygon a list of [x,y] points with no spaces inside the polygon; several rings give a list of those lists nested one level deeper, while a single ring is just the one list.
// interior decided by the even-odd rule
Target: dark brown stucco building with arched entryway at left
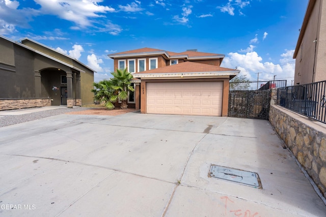
[{"label": "dark brown stucco building with arched entryway at left", "polygon": [[0,110],[94,103],[94,70],[28,38],[0,36]]}]

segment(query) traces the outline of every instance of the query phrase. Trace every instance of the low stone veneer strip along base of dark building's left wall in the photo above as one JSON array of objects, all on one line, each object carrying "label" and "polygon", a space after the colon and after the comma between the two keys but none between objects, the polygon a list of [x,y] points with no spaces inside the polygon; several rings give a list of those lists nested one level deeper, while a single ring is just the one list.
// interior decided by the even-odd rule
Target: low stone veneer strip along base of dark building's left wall
[{"label": "low stone veneer strip along base of dark building's left wall", "polygon": [[51,106],[51,99],[0,99],[0,110]]}]

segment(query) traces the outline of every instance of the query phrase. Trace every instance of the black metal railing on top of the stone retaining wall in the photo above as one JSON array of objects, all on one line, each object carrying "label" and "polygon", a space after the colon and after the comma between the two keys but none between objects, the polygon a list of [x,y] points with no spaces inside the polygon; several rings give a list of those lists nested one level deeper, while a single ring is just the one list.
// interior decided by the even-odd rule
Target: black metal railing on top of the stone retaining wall
[{"label": "black metal railing on top of the stone retaining wall", "polygon": [[326,123],[326,81],[278,88],[277,104]]}]

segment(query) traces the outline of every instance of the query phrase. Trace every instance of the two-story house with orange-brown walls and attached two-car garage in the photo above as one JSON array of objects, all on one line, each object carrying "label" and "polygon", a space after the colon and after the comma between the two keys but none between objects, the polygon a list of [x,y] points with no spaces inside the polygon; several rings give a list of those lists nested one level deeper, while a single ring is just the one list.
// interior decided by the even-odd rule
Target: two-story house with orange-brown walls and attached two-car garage
[{"label": "two-story house with orange-brown walls and attached two-car garage", "polygon": [[229,80],[239,70],[220,67],[223,54],[141,48],[108,56],[115,69],[132,73],[128,103],[141,113],[228,115]]}]

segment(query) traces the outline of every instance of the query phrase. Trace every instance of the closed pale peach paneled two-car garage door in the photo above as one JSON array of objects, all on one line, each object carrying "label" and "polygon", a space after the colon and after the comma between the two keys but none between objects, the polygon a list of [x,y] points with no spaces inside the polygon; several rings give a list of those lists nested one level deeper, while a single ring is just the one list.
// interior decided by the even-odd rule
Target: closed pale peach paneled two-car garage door
[{"label": "closed pale peach paneled two-car garage door", "polygon": [[148,82],[147,113],[222,116],[222,81]]}]

